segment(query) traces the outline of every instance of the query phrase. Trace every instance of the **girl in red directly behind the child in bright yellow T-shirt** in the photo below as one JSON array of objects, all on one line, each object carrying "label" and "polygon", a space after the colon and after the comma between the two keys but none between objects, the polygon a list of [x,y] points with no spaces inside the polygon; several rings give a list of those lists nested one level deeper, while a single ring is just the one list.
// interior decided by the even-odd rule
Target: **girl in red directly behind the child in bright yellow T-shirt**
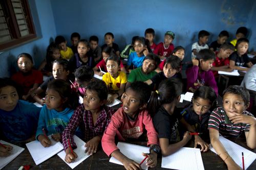
[{"label": "girl in red directly behind the child in bright yellow T-shirt", "polygon": [[[106,69],[106,59],[108,57],[110,57],[111,55],[115,55],[113,48],[110,46],[104,47],[102,50],[102,58],[103,59],[93,68],[94,74],[103,76],[104,73],[99,70],[101,69],[102,71],[105,71],[105,72],[108,71],[108,69]],[[121,60],[120,60],[120,70],[126,73],[126,70],[125,70]]]}]

